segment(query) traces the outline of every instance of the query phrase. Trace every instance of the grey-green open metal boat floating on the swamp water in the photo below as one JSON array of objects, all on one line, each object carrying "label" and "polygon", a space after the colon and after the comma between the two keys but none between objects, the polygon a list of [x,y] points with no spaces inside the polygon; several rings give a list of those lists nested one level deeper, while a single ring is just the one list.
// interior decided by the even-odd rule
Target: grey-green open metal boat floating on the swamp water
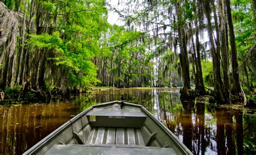
[{"label": "grey-green open metal boat floating on the swamp water", "polygon": [[23,154],[192,154],[142,105],[92,105]]}]

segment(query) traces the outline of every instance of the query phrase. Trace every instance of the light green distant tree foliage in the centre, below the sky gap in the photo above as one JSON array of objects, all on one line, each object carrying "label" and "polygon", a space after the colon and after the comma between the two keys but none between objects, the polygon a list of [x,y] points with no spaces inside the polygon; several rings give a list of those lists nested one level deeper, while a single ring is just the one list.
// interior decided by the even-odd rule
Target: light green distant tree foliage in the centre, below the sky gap
[{"label": "light green distant tree foliage in the centre, below the sky gap", "polygon": [[[107,59],[114,67],[109,68],[109,71],[115,75],[121,75],[114,79],[114,83],[120,82],[122,86],[128,86],[129,83],[139,80],[140,67],[149,64],[145,62],[146,50],[143,45],[138,44],[137,40],[143,33],[138,31],[127,31],[124,26],[113,25],[105,36],[109,37],[109,42],[104,45],[107,46],[107,51],[112,51],[110,57]],[[105,50],[104,50],[105,51]],[[109,67],[110,65],[108,65]],[[105,71],[103,71],[105,72]],[[112,77],[111,77],[112,78]]]}]

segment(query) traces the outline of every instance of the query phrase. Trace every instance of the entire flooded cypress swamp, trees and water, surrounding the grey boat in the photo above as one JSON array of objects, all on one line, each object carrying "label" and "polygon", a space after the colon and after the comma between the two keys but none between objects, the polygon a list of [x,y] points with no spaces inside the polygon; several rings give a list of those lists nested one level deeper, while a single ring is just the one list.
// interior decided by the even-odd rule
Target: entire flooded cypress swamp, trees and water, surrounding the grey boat
[{"label": "entire flooded cypress swamp, trees and water, surrounding the grey boat", "polygon": [[255,0],[0,0],[0,154],[121,95],[193,154],[256,154],[255,23]]}]

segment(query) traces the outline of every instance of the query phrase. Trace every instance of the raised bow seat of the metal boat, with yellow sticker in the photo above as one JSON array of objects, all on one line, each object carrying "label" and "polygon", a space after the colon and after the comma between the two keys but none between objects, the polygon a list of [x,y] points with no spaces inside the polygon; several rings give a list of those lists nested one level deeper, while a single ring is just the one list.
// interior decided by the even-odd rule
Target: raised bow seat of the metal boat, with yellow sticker
[{"label": "raised bow seat of the metal boat, with yellow sticker", "polygon": [[93,108],[86,116],[91,126],[112,128],[141,128],[147,118],[140,108],[120,104]]}]

